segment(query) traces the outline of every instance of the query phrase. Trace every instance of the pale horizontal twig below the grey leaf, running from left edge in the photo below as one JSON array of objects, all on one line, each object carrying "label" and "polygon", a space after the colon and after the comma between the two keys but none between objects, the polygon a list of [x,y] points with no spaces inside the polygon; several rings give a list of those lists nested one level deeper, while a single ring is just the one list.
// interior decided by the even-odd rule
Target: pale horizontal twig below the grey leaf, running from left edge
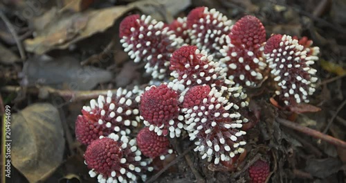
[{"label": "pale horizontal twig below the grey leaf, running from left edge", "polygon": [[[0,90],[2,92],[19,92],[22,87],[17,86],[6,86],[2,87]],[[92,90],[92,91],[72,91],[72,90],[63,90],[63,89],[54,89],[52,87],[30,87],[26,92],[30,94],[38,94],[40,91],[45,90],[48,94],[58,95],[62,98],[68,98],[69,102],[73,101],[83,101],[92,98],[97,98],[99,95],[107,95],[107,92],[110,90],[112,93],[116,92],[116,89],[107,89],[107,90]]]}]

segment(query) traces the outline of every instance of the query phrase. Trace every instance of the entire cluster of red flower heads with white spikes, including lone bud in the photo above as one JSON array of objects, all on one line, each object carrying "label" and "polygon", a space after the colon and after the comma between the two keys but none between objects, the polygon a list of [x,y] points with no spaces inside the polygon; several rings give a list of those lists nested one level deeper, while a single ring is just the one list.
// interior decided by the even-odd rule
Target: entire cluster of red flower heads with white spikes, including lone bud
[{"label": "entire cluster of red flower heads with white spikes, including lone bud", "polygon": [[[306,37],[266,40],[260,19],[251,15],[235,24],[206,7],[171,24],[130,15],[120,24],[120,38],[129,57],[145,62],[146,72],[162,84],[118,89],[83,107],[75,132],[89,145],[84,157],[99,182],[145,180],[152,159],[173,153],[168,137],[183,133],[201,159],[219,164],[239,157],[246,152],[243,125],[255,123],[245,92],[264,78],[273,79],[282,109],[308,103],[315,92],[316,69],[310,65],[318,60],[318,47]],[[146,127],[130,138],[138,123]],[[268,163],[259,162],[249,175],[264,182],[268,171]]]}]

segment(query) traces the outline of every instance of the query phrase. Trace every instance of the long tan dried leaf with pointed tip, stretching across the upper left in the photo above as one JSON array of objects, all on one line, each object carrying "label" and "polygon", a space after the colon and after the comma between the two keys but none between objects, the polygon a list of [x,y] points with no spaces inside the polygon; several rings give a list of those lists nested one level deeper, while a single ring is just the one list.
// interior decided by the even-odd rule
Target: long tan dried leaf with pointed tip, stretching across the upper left
[{"label": "long tan dried leaf with pointed tip, stretching across the upper left", "polygon": [[57,15],[57,19],[51,19],[51,24],[47,24],[42,32],[37,33],[37,37],[24,41],[26,51],[42,55],[52,49],[66,49],[70,44],[103,32],[131,8],[133,7],[116,6],[73,15]]}]

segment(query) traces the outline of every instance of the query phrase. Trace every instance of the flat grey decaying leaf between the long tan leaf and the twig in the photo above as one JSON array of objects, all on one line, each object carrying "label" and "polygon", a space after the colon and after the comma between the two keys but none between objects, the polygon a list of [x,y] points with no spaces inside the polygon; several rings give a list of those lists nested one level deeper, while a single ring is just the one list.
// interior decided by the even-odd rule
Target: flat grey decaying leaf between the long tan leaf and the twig
[{"label": "flat grey decaying leaf between the long tan leaf and the twig", "polygon": [[73,57],[50,58],[46,55],[31,58],[24,64],[24,83],[43,84],[57,89],[87,90],[113,78],[109,71],[82,67]]}]

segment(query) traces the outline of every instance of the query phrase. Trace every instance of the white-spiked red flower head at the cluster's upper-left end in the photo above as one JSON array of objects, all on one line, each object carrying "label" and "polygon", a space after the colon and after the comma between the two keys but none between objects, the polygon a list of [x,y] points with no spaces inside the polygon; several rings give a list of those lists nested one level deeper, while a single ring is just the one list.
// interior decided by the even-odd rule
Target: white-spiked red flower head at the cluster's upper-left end
[{"label": "white-spiked red flower head at the cluster's upper-left end", "polygon": [[170,55],[183,42],[162,21],[150,16],[130,15],[120,23],[120,42],[134,62],[147,62],[145,69],[153,78],[163,79]]}]

